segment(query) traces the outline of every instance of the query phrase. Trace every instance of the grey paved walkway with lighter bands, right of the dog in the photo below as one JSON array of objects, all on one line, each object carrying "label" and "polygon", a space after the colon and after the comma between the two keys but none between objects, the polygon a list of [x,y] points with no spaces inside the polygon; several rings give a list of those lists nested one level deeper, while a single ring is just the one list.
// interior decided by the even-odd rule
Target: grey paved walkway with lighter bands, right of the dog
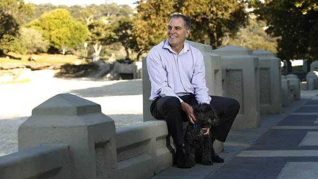
[{"label": "grey paved walkway with lighter bands, right of the dog", "polygon": [[225,163],[175,166],[153,179],[318,179],[318,90],[279,115],[262,115],[257,129],[232,129],[219,155]]}]

